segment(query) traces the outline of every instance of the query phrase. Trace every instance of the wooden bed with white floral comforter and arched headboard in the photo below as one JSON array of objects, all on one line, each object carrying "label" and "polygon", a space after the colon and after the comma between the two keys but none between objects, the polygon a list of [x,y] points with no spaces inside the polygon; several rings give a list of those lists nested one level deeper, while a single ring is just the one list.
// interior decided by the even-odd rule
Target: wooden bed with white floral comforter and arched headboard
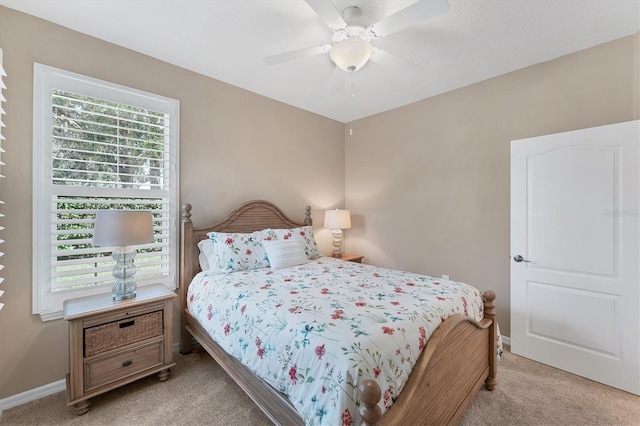
[{"label": "wooden bed with white floral comforter and arched headboard", "polygon": [[[283,425],[455,424],[483,384],[489,390],[495,388],[499,333],[495,321],[495,294],[492,291],[485,291],[480,295],[477,290],[462,283],[439,282],[417,274],[375,269],[370,265],[322,257],[291,267],[285,262],[277,270],[273,262],[271,268],[248,267],[242,271],[223,274],[201,270],[202,252],[198,244],[210,238],[215,240],[213,235],[301,228],[310,230],[311,225],[311,209],[308,206],[304,220],[296,222],[270,202],[250,201],[221,222],[196,228],[191,221],[191,205],[184,205],[180,247],[181,353],[191,352],[195,339],[274,423]],[[271,239],[271,234],[267,235],[266,239]],[[284,238],[282,235],[285,235]],[[274,239],[279,241],[290,235],[280,234],[276,237],[273,234]],[[229,241],[231,240],[228,239],[227,242]],[[268,247],[278,244],[264,243]],[[304,246],[303,242],[300,244]],[[305,247],[307,255],[308,249],[309,247]],[[250,252],[251,250],[247,250],[247,253]],[[272,250],[269,257],[275,259],[271,256],[273,253],[275,252]],[[326,276],[332,277],[330,279],[333,281],[316,285],[316,280]],[[307,281],[301,281],[303,279]],[[381,286],[391,279],[399,279],[402,284],[392,284],[385,293],[381,290],[385,287]],[[274,281],[277,285],[272,286]],[[346,281],[349,281],[348,287],[341,287],[342,282]],[[250,285],[261,286],[247,287]],[[435,290],[417,290],[423,287]],[[438,301],[448,303],[449,299],[453,299],[449,294],[453,294],[454,290],[467,292],[463,293],[463,306],[460,308],[427,307],[425,312],[431,312],[429,315],[395,309],[406,305],[406,299],[401,297],[422,300],[422,293],[412,293],[414,291],[431,292]],[[332,292],[347,297],[346,301],[329,299],[328,294]],[[219,297],[216,302],[204,299],[205,295],[209,297],[215,294]],[[305,300],[303,296],[308,299]],[[372,302],[376,298],[381,302]],[[386,299],[394,307],[388,312],[382,306]],[[478,302],[474,299],[479,299],[479,306],[476,306]],[[232,303],[233,307],[225,306],[225,301]],[[265,306],[269,304],[276,311],[266,312]],[[283,304],[285,306],[279,306]],[[349,305],[349,309],[355,309],[359,316],[349,313],[345,304]],[[260,310],[260,314],[245,312],[247,305],[250,305],[250,309],[253,306],[253,309]],[[379,309],[382,311],[378,311]],[[444,311],[450,312],[443,313]],[[331,319],[318,320],[317,316],[322,312],[331,315]],[[402,316],[400,313],[420,321],[427,316],[434,317],[432,319],[435,322],[419,327],[400,325],[402,323],[395,322]],[[303,316],[297,315],[304,314],[311,315],[306,322],[292,322],[293,317],[299,321],[298,318]],[[247,318],[250,324],[238,325],[239,316]],[[334,331],[334,327],[338,330],[337,324],[343,324],[342,320],[347,319],[344,317],[350,323],[345,321],[341,326],[350,327],[355,334],[342,337],[331,334],[326,348],[324,341],[321,345],[316,343],[318,340],[315,339],[320,334],[329,334]],[[264,334],[268,328],[263,324],[264,318],[271,318],[272,323],[280,321],[282,327],[279,332],[291,331],[295,334],[295,341],[291,340],[290,344],[282,347],[270,343],[270,336]],[[331,330],[328,331],[329,328]],[[398,345],[395,353],[398,360],[394,362],[390,358],[385,364],[380,362],[380,357],[384,354],[372,355],[370,348],[359,347],[359,336],[368,334],[372,328],[379,329],[377,333],[381,337],[376,335],[364,338],[367,341],[375,340],[376,347],[382,341],[380,339],[393,339],[393,344]],[[428,329],[426,332],[425,328]],[[418,334],[407,340],[405,333],[410,334],[412,330]],[[232,347],[225,340],[234,333],[233,342],[240,346]],[[337,342],[337,346],[331,348],[331,342]],[[305,350],[309,355],[306,355]],[[365,366],[347,365],[348,371],[342,375],[340,371],[335,373],[333,364],[326,361],[341,351],[351,355],[354,351],[366,352],[369,360],[377,361]],[[274,362],[277,359],[283,363],[283,367],[278,369],[271,365],[267,367],[267,373],[261,373],[261,378],[256,374],[255,364],[251,364],[255,361],[251,360],[263,363],[269,355]],[[286,361],[283,361],[285,355]],[[317,363],[324,363],[327,368],[331,365],[331,373],[317,372],[316,365],[311,364],[311,358],[314,358],[314,362],[317,358]],[[353,358],[341,360],[337,356],[331,359],[335,359],[335,365],[353,361]],[[387,365],[386,369],[381,372],[378,364]],[[409,371],[402,371],[407,366],[410,367]],[[395,391],[395,388],[392,389],[389,383],[400,376],[400,390],[394,393],[392,390]],[[340,380],[336,380],[336,377]],[[383,385],[380,386],[378,382]],[[296,394],[296,389],[297,392],[309,393]],[[304,398],[300,395],[304,395]],[[326,405],[321,403],[322,398],[326,399]],[[352,406],[347,405],[347,409],[344,409],[344,400]]]}]

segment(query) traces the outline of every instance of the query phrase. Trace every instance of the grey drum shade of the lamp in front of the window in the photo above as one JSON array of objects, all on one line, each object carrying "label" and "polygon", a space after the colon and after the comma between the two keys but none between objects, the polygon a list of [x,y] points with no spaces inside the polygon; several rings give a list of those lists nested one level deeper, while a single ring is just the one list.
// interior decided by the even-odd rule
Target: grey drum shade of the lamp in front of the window
[{"label": "grey drum shade of the lamp in front of the window", "polygon": [[151,212],[98,210],[93,228],[94,246],[131,246],[152,243]]}]

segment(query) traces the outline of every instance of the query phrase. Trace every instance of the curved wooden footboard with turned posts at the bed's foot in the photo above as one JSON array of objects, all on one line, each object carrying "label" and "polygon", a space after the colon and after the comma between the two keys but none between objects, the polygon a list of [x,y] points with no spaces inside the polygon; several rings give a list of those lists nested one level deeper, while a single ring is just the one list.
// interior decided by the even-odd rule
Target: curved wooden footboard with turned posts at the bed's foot
[{"label": "curved wooden footboard with turned posts at the bed's foot", "polygon": [[368,404],[362,404],[360,410],[367,419],[365,424],[378,421],[383,425],[456,424],[483,383],[489,390],[495,388],[496,296],[493,291],[486,291],[483,296],[484,319],[477,322],[465,315],[454,315],[440,324],[400,396],[380,420],[376,416],[380,397],[376,400],[373,395],[382,390],[372,380],[363,381],[361,399]]}]

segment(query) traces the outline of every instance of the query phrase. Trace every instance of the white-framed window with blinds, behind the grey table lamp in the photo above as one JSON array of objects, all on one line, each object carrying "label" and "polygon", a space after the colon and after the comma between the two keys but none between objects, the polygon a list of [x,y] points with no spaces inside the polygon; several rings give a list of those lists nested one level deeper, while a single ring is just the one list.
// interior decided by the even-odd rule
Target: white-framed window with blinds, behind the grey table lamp
[{"label": "white-framed window with blinds, behind the grey table lamp", "polygon": [[112,248],[92,245],[100,209],[153,213],[136,281],[176,288],[178,123],[177,100],[34,65],[34,313],[110,291]]}]

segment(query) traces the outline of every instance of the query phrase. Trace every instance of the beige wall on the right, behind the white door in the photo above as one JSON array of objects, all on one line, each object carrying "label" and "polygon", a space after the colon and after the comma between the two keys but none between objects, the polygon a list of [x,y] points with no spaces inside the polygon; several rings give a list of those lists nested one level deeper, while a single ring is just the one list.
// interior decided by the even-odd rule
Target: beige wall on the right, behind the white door
[{"label": "beige wall on the right, behind the white door", "polygon": [[510,335],[510,141],[640,118],[639,46],[635,34],[357,121],[346,249],[495,290]]}]

